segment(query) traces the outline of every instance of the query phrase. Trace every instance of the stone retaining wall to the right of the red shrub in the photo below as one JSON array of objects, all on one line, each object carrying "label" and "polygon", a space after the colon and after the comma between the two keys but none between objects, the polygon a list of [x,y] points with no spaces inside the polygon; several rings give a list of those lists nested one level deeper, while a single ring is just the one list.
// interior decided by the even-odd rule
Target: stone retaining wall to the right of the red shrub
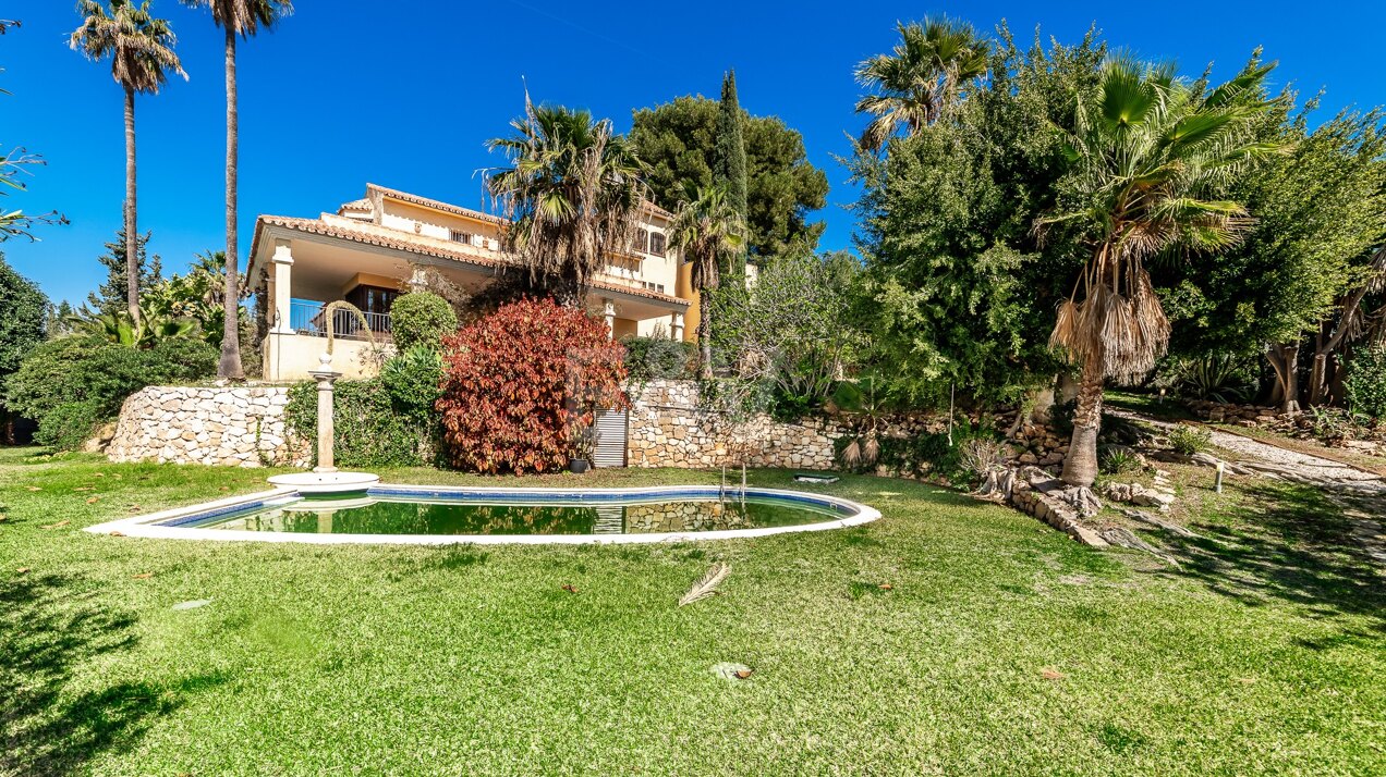
[{"label": "stone retaining wall to the right of the red shrub", "polygon": [[650,381],[632,392],[626,461],[631,467],[750,467],[832,470],[833,442],[845,429],[825,420],[782,424],[760,416],[732,425],[699,407],[694,381]]}]

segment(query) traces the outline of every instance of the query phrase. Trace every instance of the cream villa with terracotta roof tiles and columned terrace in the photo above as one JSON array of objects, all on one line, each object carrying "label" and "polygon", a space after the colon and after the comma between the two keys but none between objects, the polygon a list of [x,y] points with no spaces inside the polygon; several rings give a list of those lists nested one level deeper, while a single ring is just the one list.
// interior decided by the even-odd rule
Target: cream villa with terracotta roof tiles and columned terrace
[{"label": "cream villa with terracotta roof tiles and columned terrace", "polygon": [[[635,245],[611,253],[590,284],[588,307],[606,317],[613,337],[692,339],[697,294],[690,269],[669,247],[674,215],[646,202]],[[308,377],[323,353],[326,306],[333,314],[334,367],[348,377],[370,370],[370,350],[389,343],[389,307],[421,269],[434,269],[459,288],[477,292],[507,267],[499,216],[376,184],[366,197],[316,219],[261,216],[255,223],[245,277],[263,284],[263,375],[270,381]]]}]

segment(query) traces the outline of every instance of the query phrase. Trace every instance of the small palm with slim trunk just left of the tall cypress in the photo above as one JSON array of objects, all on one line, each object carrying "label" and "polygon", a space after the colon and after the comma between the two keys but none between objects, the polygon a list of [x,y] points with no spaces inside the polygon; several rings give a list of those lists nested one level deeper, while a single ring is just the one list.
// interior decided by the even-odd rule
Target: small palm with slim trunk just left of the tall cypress
[{"label": "small palm with slim trunk just left of the tall cypress", "polygon": [[718,265],[746,244],[746,222],[732,205],[726,187],[697,188],[679,202],[669,242],[692,262],[693,288],[699,289],[697,339],[703,377],[712,377],[711,291],[718,285]]}]

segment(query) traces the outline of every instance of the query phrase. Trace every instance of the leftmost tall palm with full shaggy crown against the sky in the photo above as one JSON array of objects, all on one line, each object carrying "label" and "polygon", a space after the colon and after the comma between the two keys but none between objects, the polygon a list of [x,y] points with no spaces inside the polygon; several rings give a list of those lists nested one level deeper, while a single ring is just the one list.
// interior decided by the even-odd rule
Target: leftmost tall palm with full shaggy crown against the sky
[{"label": "leftmost tall palm with full shaggy crown against the sky", "polygon": [[93,61],[111,57],[111,76],[125,90],[125,262],[126,313],[140,325],[139,230],[134,204],[134,94],[158,94],[168,71],[187,79],[173,53],[173,30],[168,21],[150,15],[150,3],[111,0],[111,11],[96,0],[80,0],[82,26],[72,32],[69,46]]}]

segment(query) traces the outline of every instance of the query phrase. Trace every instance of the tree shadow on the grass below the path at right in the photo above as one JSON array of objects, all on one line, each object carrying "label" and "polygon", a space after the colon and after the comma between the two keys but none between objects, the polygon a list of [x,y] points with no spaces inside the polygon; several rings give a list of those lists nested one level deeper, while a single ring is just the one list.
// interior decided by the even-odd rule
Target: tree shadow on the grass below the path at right
[{"label": "tree shadow on the grass below the path at right", "polygon": [[1326,650],[1386,636],[1386,591],[1374,561],[1350,535],[1353,522],[1317,489],[1261,485],[1227,515],[1225,526],[1199,526],[1202,539],[1168,540],[1182,575],[1249,605],[1271,601],[1307,608],[1321,618],[1368,618],[1367,630],[1326,640],[1300,640]]}]

